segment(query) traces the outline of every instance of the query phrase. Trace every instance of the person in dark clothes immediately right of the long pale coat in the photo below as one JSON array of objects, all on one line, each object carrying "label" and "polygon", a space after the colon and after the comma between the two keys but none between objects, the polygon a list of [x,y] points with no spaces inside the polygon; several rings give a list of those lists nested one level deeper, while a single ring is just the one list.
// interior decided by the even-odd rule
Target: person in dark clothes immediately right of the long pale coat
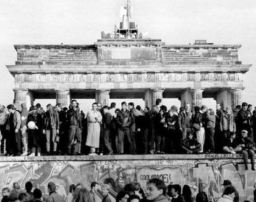
[{"label": "person in dark clothes immediately right of the long pale coat", "polygon": [[104,130],[104,145],[105,145],[105,150],[107,155],[113,155],[113,150],[112,150],[112,138],[111,138],[111,123],[112,123],[112,115],[109,113],[109,107],[104,106],[103,107],[103,130]]}]

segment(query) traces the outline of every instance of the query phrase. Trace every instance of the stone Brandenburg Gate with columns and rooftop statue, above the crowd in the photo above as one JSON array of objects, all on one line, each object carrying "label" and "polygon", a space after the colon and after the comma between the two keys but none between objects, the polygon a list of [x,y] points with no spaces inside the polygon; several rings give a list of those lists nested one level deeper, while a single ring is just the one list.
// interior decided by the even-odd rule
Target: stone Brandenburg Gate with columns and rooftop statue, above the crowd
[{"label": "stone Brandenburg Gate with columns and rooftop statue, above the crowd", "polygon": [[143,36],[129,20],[127,10],[114,35],[102,32],[92,45],[14,45],[17,61],[7,65],[14,102],[56,98],[67,107],[70,99],[109,105],[129,97],[152,107],[158,98],[179,98],[181,105],[200,106],[211,97],[223,107],[241,104],[242,75],[250,67],[238,59],[241,45],[168,45]]}]

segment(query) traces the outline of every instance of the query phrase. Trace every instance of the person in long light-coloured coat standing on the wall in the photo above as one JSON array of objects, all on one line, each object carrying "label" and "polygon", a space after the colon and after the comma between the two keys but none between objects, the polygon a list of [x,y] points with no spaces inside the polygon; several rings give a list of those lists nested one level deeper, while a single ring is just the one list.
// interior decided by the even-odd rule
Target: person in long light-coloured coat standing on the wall
[{"label": "person in long light-coloured coat standing on the wall", "polygon": [[97,110],[97,104],[92,104],[92,110],[87,113],[87,140],[86,145],[91,147],[89,155],[96,155],[95,148],[100,147],[100,122],[102,116]]}]

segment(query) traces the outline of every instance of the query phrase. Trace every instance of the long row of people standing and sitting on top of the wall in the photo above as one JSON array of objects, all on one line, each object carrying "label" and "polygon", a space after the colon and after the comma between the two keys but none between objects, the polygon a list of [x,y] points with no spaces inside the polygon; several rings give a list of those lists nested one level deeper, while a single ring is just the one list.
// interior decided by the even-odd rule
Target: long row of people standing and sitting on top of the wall
[{"label": "long row of people standing and sitting on top of the wall", "polygon": [[[179,108],[162,105],[142,109],[134,103],[101,106],[93,103],[87,115],[72,100],[69,109],[60,104],[40,103],[19,111],[14,105],[0,105],[2,154],[40,155],[122,155],[180,153],[242,153],[254,170],[256,110],[243,102],[233,110],[216,113],[207,106]],[[255,123],[255,124],[254,124]]]}]

